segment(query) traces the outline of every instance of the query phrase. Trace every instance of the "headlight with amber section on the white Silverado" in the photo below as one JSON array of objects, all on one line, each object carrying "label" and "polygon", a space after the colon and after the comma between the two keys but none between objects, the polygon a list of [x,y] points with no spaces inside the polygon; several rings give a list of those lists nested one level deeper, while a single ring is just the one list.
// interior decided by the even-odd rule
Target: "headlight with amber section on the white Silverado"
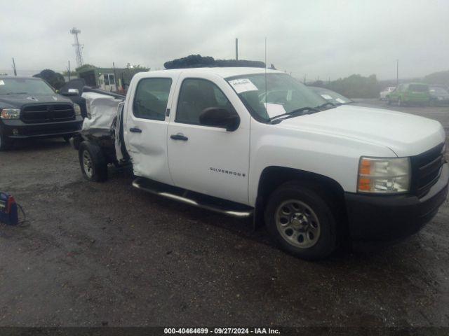
[{"label": "headlight with amber section on the white Silverado", "polygon": [[409,158],[366,158],[358,165],[359,193],[398,194],[410,190]]}]

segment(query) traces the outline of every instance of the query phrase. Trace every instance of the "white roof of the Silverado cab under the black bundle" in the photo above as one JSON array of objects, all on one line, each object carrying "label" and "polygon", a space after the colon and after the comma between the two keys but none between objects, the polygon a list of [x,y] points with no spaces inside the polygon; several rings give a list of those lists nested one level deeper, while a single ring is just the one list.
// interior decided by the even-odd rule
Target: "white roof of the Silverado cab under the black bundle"
[{"label": "white roof of the Silverado cab under the black bundle", "polygon": [[232,76],[240,76],[247,75],[253,73],[283,73],[283,71],[272,70],[272,69],[264,69],[264,68],[250,68],[250,67],[202,67],[202,68],[187,68],[187,69],[168,69],[168,70],[158,70],[158,71],[148,71],[146,73],[151,73],[152,75],[163,75],[164,73],[192,73],[192,76],[204,74],[204,73],[213,73],[222,78],[232,77]]}]

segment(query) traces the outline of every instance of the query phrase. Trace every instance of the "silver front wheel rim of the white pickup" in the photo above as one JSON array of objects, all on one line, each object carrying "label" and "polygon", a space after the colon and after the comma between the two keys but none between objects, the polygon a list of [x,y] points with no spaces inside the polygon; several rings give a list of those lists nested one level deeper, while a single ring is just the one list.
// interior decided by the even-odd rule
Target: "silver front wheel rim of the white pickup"
[{"label": "silver front wheel rim of the white pickup", "polygon": [[287,200],[276,209],[276,228],[281,237],[298,248],[314,246],[321,235],[321,225],[309,205]]}]

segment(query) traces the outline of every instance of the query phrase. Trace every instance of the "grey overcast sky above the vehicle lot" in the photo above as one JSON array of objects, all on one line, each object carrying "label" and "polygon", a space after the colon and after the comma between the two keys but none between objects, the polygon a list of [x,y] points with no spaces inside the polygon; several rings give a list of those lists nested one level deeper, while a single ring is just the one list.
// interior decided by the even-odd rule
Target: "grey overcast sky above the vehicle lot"
[{"label": "grey overcast sky above the vehicle lot", "polygon": [[449,69],[449,0],[0,0],[0,72],[163,63],[191,54],[267,64],[307,80],[403,78]]}]

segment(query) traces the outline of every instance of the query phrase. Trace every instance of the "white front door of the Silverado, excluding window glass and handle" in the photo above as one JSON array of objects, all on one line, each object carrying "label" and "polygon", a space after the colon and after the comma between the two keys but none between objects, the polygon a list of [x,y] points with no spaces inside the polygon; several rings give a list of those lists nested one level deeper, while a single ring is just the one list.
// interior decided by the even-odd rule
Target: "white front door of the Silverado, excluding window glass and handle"
[{"label": "white front door of the Silverado, excluding window glass and handle", "polygon": [[[180,85],[192,74],[181,73],[173,102],[177,102]],[[215,83],[227,96],[240,116],[239,128],[227,132],[223,128],[175,122],[173,103],[168,125],[168,162],[175,186],[210,196],[248,203],[248,157],[250,150],[250,114],[227,82],[216,75],[203,79]],[[182,134],[188,141],[170,139]]]}]

